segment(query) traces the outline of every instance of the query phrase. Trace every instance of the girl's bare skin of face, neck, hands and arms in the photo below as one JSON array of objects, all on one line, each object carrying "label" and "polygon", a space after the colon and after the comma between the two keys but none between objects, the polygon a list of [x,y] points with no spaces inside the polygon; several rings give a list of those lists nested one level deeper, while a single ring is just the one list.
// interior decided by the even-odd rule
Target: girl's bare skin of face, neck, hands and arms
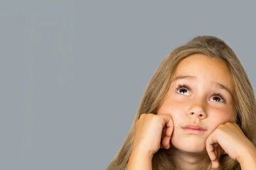
[{"label": "girl's bare skin of face, neck, hands and arms", "polygon": [[176,148],[176,169],[199,169],[206,158],[217,168],[220,154],[237,160],[242,169],[256,169],[256,149],[235,124],[232,91],[225,62],[198,54],[186,57],[157,115],[142,114],[137,120],[127,169],[151,169],[160,147]]}]

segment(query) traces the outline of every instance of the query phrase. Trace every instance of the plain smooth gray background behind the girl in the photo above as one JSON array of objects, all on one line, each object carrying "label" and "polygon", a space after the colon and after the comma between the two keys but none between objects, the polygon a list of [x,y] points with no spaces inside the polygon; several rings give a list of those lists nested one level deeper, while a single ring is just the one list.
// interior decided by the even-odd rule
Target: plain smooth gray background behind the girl
[{"label": "plain smooth gray background behind the girl", "polygon": [[0,169],[106,169],[174,47],[214,35],[255,79],[252,1],[1,1]]}]

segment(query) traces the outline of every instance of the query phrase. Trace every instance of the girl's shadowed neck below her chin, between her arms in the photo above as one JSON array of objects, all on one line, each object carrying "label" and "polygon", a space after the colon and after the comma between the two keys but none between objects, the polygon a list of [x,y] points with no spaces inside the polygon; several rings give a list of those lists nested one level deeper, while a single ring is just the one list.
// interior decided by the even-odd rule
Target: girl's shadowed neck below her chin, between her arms
[{"label": "girl's shadowed neck below her chin, between her arms", "polygon": [[174,151],[174,164],[176,165],[177,170],[184,169],[201,169],[203,164],[208,162],[208,154],[205,153],[190,153],[183,152],[181,150],[175,149]]}]

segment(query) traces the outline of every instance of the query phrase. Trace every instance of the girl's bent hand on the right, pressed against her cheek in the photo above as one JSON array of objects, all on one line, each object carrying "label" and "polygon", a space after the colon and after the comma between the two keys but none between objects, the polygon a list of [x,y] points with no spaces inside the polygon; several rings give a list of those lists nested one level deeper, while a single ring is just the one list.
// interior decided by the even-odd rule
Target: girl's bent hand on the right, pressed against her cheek
[{"label": "girl's bent hand on the right, pressed against her cheek", "polygon": [[[206,150],[212,162],[213,169],[219,166],[221,154],[228,154],[231,159],[237,160],[241,166],[245,164],[247,155],[256,154],[252,142],[243,134],[235,123],[219,125],[207,138]],[[255,162],[254,162],[255,163]]]}]

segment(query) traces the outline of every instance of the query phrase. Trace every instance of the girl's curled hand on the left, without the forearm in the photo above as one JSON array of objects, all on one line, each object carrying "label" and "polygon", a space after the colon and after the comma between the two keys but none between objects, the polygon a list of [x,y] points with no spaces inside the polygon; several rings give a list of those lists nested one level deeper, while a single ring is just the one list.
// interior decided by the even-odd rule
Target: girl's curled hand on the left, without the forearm
[{"label": "girl's curled hand on the left, without the forearm", "polygon": [[174,123],[169,114],[142,114],[135,125],[133,149],[153,155],[160,147],[169,149]]}]

